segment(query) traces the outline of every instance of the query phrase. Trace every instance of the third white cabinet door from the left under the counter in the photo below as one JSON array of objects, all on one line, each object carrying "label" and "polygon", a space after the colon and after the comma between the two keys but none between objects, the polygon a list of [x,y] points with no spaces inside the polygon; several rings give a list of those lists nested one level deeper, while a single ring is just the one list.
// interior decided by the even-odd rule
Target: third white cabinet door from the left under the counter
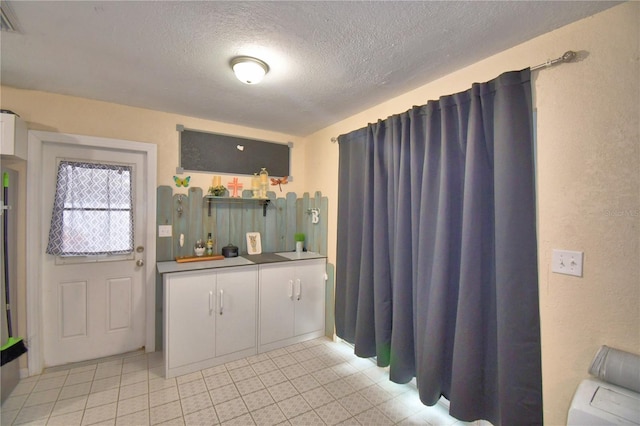
[{"label": "third white cabinet door from the left under the counter", "polygon": [[293,267],[260,267],[260,344],[293,337]]}]

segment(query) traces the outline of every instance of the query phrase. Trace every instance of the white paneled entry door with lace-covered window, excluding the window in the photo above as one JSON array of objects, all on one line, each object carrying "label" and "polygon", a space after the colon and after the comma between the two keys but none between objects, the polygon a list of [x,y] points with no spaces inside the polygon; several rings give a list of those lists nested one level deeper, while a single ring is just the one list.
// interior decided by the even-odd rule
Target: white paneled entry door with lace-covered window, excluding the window
[{"label": "white paneled entry door with lace-covered window, excluding the window", "polygon": [[132,166],[134,251],[84,257],[43,255],[45,366],[124,353],[145,345],[145,156],[94,146],[45,143],[41,174],[43,247],[49,238],[61,160]]}]

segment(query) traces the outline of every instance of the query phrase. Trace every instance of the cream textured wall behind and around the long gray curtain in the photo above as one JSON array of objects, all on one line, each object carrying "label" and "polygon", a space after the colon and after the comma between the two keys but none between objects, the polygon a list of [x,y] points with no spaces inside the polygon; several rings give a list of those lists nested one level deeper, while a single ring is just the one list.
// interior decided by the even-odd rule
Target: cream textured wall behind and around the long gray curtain
[{"label": "cream textured wall behind and around the long gray curtain", "polygon": [[[573,393],[600,345],[640,353],[640,3],[616,6],[545,34],[308,138],[307,183],[331,200],[335,262],[338,147],[331,137],[466,90],[504,71],[535,72],[538,256],[544,419],[566,423]],[[315,177],[318,176],[319,179]],[[552,248],[585,253],[584,276],[551,273]]]}]

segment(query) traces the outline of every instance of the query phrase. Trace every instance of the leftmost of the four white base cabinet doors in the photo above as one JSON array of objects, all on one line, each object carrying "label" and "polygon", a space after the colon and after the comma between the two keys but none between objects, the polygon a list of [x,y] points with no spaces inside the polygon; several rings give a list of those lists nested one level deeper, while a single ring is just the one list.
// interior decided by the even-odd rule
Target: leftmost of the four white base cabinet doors
[{"label": "leftmost of the four white base cabinet doors", "polygon": [[186,274],[167,279],[169,368],[215,356],[216,274]]}]

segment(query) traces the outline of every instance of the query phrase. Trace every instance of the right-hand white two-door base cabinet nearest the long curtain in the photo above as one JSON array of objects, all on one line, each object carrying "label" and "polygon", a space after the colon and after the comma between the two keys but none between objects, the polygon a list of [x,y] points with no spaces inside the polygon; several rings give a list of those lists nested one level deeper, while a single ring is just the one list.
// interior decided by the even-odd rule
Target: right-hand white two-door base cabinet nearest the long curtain
[{"label": "right-hand white two-door base cabinet nearest the long curtain", "polygon": [[258,352],[324,335],[325,259],[260,266]]}]

